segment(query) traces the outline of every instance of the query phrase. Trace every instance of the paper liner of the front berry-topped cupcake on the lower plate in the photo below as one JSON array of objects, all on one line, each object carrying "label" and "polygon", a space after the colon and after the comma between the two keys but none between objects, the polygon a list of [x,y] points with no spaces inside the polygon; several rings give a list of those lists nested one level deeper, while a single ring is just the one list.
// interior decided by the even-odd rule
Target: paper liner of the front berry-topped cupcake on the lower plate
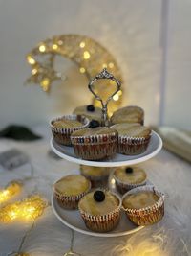
[{"label": "paper liner of the front berry-topped cupcake on the lower plate", "polygon": [[81,217],[83,221],[85,222],[86,226],[95,232],[108,232],[113,230],[117,223],[120,220],[120,208],[121,208],[121,199],[117,196],[117,194],[113,193],[118,201],[119,205],[117,206],[117,209],[114,211],[105,214],[105,215],[90,215],[86,212],[84,212],[79,207],[79,211],[81,214]]}]

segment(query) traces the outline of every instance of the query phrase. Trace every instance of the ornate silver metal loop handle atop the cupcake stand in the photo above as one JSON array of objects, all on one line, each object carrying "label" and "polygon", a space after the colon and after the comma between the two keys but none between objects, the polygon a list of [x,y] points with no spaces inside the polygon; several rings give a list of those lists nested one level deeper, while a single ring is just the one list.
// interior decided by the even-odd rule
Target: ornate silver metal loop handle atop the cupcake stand
[{"label": "ornate silver metal loop handle atop the cupcake stand", "polygon": [[[96,81],[98,80],[112,80],[112,81],[115,81],[116,84],[117,84],[117,90],[111,95],[108,97],[108,99],[104,101],[100,98],[100,96],[98,96],[96,94],[96,92],[94,91],[94,88],[93,88],[93,85]],[[117,94],[117,92],[120,90],[120,87],[121,87],[121,82],[118,81],[113,74],[109,73],[106,68],[104,68],[99,74],[96,75],[95,78],[93,78],[89,84],[88,84],[88,88],[89,90],[94,94],[94,96],[96,97],[96,100],[100,101],[101,102],[101,105],[102,105],[102,126],[104,127],[109,127],[109,119],[108,119],[108,103],[113,99],[113,97]]]}]

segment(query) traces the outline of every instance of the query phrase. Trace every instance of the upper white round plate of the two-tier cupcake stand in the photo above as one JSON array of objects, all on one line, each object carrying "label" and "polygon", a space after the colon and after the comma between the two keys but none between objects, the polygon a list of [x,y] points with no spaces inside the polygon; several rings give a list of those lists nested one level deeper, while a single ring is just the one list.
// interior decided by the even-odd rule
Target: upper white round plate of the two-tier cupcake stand
[{"label": "upper white round plate of the two-tier cupcake stand", "polygon": [[75,155],[73,147],[60,145],[56,143],[54,139],[51,139],[51,148],[58,156],[77,164],[98,167],[115,167],[138,164],[154,157],[162,148],[162,140],[158,133],[152,131],[151,140],[145,152],[138,155],[124,155],[117,153],[113,159],[106,159],[102,161],[82,160]]}]

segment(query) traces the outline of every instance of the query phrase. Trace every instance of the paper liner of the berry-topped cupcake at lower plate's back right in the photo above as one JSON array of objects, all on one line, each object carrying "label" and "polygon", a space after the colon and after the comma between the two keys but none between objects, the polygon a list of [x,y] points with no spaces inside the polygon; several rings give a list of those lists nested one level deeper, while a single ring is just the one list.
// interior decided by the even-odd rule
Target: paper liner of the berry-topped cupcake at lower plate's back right
[{"label": "paper liner of the berry-topped cupcake at lower plate's back right", "polygon": [[143,180],[142,182],[139,182],[139,183],[125,183],[125,182],[122,182],[121,180],[119,180],[115,174],[113,176],[116,181],[117,191],[120,194],[124,194],[132,189],[146,185],[146,178],[145,178],[145,180]]}]

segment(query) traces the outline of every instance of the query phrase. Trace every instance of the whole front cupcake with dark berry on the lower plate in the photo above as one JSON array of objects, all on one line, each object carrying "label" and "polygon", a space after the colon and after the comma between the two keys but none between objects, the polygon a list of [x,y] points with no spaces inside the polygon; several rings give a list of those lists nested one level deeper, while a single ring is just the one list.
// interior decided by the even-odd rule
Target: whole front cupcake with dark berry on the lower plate
[{"label": "whole front cupcake with dark berry on the lower plate", "polygon": [[86,226],[96,232],[108,232],[120,219],[121,200],[109,191],[96,190],[80,199],[78,208]]}]

